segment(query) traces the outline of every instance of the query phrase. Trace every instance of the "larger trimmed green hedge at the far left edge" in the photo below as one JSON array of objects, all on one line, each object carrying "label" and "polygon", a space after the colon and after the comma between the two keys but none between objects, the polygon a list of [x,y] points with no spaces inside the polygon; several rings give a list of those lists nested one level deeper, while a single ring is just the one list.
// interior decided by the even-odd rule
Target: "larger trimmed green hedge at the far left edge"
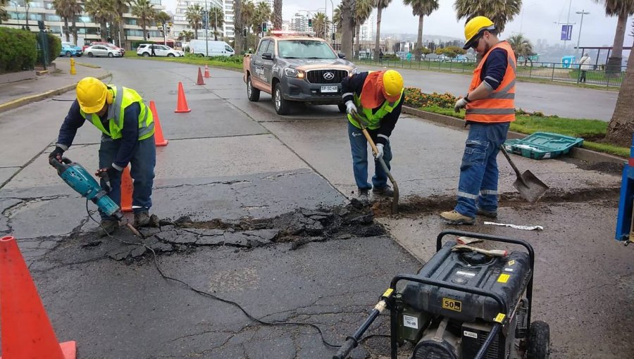
[{"label": "larger trimmed green hedge at the far left edge", "polygon": [[31,70],[35,66],[35,61],[35,33],[0,27],[0,72]]}]

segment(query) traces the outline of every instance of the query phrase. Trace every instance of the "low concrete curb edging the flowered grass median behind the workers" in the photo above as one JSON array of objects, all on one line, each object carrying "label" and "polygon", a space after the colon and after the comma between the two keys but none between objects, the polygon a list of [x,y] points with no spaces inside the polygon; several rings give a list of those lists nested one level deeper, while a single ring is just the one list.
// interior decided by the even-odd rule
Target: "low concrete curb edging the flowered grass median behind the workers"
[{"label": "low concrete curb edging the flowered grass median behind the workers", "polygon": [[[403,106],[403,112],[409,115],[416,115],[419,118],[423,118],[423,120],[429,120],[431,122],[440,123],[442,125],[447,125],[451,127],[459,127],[464,129],[465,121],[460,118],[454,118],[447,115],[440,115],[438,113],[431,113],[427,111],[418,110],[417,108]],[[527,134],[512,132],[509,131],[509,134],[506,136],[508,139],[523,139],[528,136]],[[571,158],[576,158],[578,160],[585,160],[590,163],[618,163],[623,164],[626,162],[626,158],[621,158],[617,156],[612,156],[607,153],[600,153],[596,151],[592,151],[589,149],[582,149],[580,147],[573,147],[570,152],[568,152],[568,156]],[[557,159],[557,158],[554,158]]]}]

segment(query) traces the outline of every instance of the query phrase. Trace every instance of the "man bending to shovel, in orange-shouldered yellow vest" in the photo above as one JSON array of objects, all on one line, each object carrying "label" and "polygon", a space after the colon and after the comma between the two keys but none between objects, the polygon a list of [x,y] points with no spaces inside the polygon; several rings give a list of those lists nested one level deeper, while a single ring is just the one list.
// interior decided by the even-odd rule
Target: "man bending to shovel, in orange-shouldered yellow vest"
[{"label": "man bending to shovel, in orange-shouldered yellow vest", "polygon": [[[358,73],[342,81],[342,99],[348,113],[348,137],[352,149],[352,170],[359,199],[368,200],[368,190],[380,196],[393,196],[387,175],[378,163],[383,158],[390,169],[390,135],[403,106],[403,77],[394,70]],[[353,113],[368,120],[368,132],[376,144],[374,177],[368,183],[368,143]]]}]

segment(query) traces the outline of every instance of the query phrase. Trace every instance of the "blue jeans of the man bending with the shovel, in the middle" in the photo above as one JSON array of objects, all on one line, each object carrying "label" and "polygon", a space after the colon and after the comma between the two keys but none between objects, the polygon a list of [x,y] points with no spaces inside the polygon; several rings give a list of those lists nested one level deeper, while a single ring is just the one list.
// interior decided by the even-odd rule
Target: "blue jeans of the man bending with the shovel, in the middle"
[{"label": "blue jeans of the man bending with the shovel, in the middle", "polygon": [[[378,189],[387,186],[387,175],[378,160],[374,161],[372,184],[368,183],[368,141],[363,136],[361,129],[354,127],[350,121],[348,121],[348,137],[350,139],[350,149],[352,150],[352,170],[356,187],[359,189],[372,189],[372,185],[374,185],[374,188]],[[390,149],[389,141],[383,146],[383,160],[385,165],[387,165],[387,169],[392,170],[390,167],[392,149]]]}]

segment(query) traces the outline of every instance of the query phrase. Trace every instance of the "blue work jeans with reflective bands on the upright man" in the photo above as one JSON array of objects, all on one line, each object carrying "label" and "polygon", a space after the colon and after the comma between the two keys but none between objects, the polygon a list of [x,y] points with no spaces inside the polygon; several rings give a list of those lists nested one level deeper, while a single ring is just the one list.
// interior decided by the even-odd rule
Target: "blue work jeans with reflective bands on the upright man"
[{"label": "blue work jeans with reflective bands on the upright man", "polygon": [[454,208],[461,215],[473,218],[478,207],[497,210],[497,153],[506,141],[509,124],[471,122],[469,125],[460,165],[458,204]]}]

